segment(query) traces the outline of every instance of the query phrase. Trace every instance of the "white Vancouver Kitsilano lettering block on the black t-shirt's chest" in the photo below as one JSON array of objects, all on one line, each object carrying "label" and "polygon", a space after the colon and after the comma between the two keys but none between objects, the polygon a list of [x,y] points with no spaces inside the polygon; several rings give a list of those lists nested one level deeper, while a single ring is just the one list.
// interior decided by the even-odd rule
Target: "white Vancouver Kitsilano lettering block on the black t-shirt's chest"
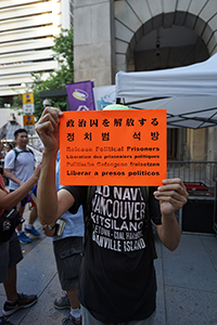
[{"label": "white Vancouver Kitsilano lettering block on the black t-shirt's chest", "polygon": [[145,203],[140,187],[97,186],[91,212],[92,239],[111,250],[140,250],[145,247],[144,216]]}]

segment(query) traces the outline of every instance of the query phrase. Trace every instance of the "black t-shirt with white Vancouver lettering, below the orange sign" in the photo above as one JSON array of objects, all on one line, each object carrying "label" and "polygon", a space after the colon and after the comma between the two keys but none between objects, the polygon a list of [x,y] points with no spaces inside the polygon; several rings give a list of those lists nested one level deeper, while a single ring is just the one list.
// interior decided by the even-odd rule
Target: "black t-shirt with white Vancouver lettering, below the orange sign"
[{"label": "black t-shirt with white Vancouver lettering, below the orange sign", "polygon": [[[71,212],[86,200],[87,187],[65,186],[75,197]],[[158,202],[149,187],[149,213],[161,224]],[[156,278],[140,187],[97,186],[86,232],[79,301],[101,322],[148,318],[155,310]]]}]

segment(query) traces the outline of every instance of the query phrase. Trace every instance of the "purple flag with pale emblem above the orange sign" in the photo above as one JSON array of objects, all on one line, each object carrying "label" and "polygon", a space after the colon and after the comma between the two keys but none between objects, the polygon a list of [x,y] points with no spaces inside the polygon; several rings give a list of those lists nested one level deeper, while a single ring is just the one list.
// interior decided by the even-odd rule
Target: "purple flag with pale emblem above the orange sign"
[{"label": "purple flag with pale emblem above the orange sign", "polygon": [[92,81],[66,84],[71,110],[95,110],[92,88]]}]

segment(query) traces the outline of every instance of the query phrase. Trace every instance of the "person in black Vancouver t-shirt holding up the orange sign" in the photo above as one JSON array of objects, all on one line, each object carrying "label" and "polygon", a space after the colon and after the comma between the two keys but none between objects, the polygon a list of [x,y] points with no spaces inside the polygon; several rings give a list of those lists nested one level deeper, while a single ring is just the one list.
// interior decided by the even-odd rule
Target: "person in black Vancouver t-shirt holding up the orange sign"
[{"label": "person in black Vancouver t-shirt holding up the orange sign", "polygon": [[[62,115],[60,109],[47,107],[36,126],[44,145],[38,216],[42,224],[53,225],[66,210],[75,213],[80,205],[86,206],[89,197],[78,287],[82,325],[154,324],[155,251],[150,219],[162,243],[175,250],[181,237],[175,211],[187,203],[186,187],[180,179],[167,179],[158,187],[67,185],[56,193]],[[67,324],[76,323],[71,320]]]}]

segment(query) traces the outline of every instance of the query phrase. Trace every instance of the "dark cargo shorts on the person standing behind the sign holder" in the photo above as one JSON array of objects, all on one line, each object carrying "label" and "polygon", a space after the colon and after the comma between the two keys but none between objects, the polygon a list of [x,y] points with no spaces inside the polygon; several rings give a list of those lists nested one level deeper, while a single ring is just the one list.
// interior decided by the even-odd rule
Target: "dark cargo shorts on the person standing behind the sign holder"
[{"label": "dark cargo shorts on the person standing behind the sign holder", "polygon": [[65,291],[76,289],[82,260],[82,237],[55,240],[53,250],[62,289]]}]

